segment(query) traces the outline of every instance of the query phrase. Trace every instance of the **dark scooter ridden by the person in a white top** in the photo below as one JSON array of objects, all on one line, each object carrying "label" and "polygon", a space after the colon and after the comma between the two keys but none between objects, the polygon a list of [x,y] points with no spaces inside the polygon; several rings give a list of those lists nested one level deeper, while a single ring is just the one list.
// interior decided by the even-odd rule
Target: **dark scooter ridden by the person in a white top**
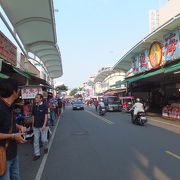
[{"label": "dark scooter ridden by the person in a white top", "polygon": [[143,126],[147,123],[147,117],[145,116],[144,112],[138,112],[136,117],[134,118],[134,110],[130,110],[131,112],[131,121],[133,124],[139,124]]}]

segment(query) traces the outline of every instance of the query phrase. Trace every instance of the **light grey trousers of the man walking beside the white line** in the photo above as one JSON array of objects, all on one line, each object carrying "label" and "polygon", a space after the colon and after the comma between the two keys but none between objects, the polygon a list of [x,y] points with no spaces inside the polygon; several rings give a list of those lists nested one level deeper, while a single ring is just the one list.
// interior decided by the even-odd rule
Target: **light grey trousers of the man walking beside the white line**
[{"label": "light grey trousers of the man walking beside the white line", "polygon": [[43,143],[44,149],[47,149],[48,139],[48,127],[45,130],[41,130],[41,128],[34,128],[34,155],[40,156],[40,147],[39,147],[39,138],[41,136],[41,142]]}]

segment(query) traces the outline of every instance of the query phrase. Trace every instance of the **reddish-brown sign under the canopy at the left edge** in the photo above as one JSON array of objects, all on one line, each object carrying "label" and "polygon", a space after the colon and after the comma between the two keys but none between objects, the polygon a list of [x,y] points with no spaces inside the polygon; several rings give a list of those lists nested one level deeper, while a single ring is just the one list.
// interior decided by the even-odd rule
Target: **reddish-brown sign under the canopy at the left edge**
[{"label": "reddish-brown sign under the canopy at the left edge", "polygon": [[0,57],[16,65],[17,48],[2,32],[0,32]]}]

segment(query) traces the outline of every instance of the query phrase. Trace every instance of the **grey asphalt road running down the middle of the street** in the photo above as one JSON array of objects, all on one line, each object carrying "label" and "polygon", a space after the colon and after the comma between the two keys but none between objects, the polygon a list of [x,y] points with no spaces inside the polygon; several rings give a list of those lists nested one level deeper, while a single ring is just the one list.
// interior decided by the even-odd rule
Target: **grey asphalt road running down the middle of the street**
[{"label": "grey asphalt road running down the middle of the street", "polygon": [[179,180],[180,135],[129,119],[126,113],[100,118],[91,108],[67,109],[41,180]]}]

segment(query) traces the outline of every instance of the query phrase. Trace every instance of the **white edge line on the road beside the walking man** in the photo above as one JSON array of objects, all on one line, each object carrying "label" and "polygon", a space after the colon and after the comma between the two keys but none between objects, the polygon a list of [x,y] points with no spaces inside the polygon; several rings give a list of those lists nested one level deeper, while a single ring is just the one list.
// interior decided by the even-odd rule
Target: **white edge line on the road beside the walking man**
[{"label": "white edge line on the road beside the walking man", "polygon": [[[50,139],[50,142],[49,142],[49,146],[48,146],[49,151],[50,151],[50,149],[51,149],[51,145],[52,145],[54,136],[55,136],[55,134],[56,134],[56,129],[57,129],[57,127],[58,127],[59,121],[60,121],[60,117],[58,118],[56,127],[55,127],[55,129],[54,129],[54,131],[53,131],[53,135],[52,135],[52,137],[51,137],[51,139]],[[38,170],[38,172],[37,172],[37,174],[36,174],[35,180],[40,180],[40,179],[41,179],[41,176],[42,176],[42,173],[43,173],[45,164],[46,164],[46,160],[47,160],[48,154],[49,154],[49,153],[44,154],[44,157],[43,157],[43,159],[42,159],[42,161],[41,161],[39,170]]]}]

